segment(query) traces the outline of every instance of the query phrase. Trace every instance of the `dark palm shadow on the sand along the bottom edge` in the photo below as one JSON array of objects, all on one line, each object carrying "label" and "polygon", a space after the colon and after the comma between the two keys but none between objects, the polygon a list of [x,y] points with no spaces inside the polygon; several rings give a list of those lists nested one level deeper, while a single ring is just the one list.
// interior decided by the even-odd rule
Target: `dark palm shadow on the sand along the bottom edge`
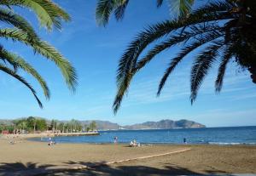
[{"label": "dark palm shadow on the sand along the bottom edge", "polygon": [[[38,165],[37,163],[21,162],[0,163],[0,175],[203,175],[184,167],[167,166],[164,168],[146,166],[109,166],[104,162],[66,162],[69,168],[58,168],[55,165]],[[74,166],[84,166],[84,169],[71,169]],[[218,174],[216,171],[206,171],[207,174]],[[222,172],[224,174],[224,172]]]}]

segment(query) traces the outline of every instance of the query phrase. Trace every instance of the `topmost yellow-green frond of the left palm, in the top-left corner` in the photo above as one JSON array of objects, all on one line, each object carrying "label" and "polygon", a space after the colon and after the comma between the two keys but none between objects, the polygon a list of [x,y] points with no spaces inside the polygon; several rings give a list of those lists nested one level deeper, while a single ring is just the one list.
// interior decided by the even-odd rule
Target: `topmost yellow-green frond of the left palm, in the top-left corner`
[{"label": "topmost yellow-green frond of the left palm, in the top-left corner", "polygon": [[61,29],[61,20],[70,20],[69,14],[49,0],[2,0],[0,4],[32,9],[41,26],[47,27],[49,31],[52,26]]}]

